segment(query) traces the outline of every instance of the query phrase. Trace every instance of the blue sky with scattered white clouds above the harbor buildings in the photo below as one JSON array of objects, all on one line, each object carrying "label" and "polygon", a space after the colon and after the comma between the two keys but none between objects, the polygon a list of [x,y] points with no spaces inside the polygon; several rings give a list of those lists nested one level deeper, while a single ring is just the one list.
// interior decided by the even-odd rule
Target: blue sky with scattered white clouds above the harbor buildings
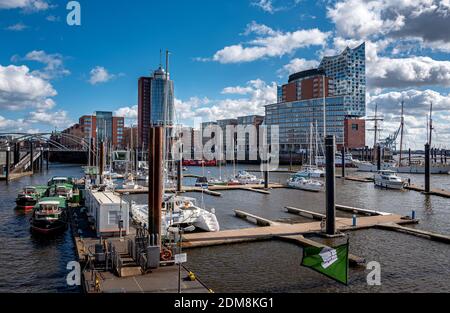
[{"label": "blue sky with scattered white clouds above the harbor buildings", "polygon": [[[429,101],[450,139],[448,0],[0,0],[0,131],[63,129],[95,110],[136,116],[137,79],[169,49],[180,122],[263,113],[275,86],[366,42],[369,114],[422,140]],[[450,15],[449,15],[450,16]]]}]

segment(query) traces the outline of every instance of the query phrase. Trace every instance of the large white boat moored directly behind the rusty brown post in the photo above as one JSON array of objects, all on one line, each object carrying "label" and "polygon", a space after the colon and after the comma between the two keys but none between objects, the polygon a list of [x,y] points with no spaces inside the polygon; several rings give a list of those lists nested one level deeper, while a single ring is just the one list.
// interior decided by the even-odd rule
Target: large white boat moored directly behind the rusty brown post
[{"label": "large white boat moored directly behind the rusty brown post", "polygon": [[[167,229],[173,226],[190,226],[207,232],[220,230],[219,222],[211,211],[196,206],[196,200],[189,197],[166,196],[162,210],[161,227],[163,235]],[[133,219],[143,225],[148,223],[148,206],[132,204],[131,214]]]}]

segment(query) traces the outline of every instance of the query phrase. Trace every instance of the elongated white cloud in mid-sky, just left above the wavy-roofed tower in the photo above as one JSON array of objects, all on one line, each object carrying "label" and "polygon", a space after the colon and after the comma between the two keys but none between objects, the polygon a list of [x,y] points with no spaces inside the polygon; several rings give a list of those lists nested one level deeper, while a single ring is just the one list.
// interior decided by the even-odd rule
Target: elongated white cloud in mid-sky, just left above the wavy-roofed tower
[{"label": "elongated white cloud in mid-sky, just left above the wavy-roofed tower", "polygon": [[240,63],[266,57],[281,57],[299,48],[323,46],[329,36],[329,33],[324,33],[317,28],[283,33],[255,22],[247,25],[245,34],[250,33],[254,33],[258,37],[245,45],[236,44],[224,47],[214,54],[212,60],[220,63]]}]

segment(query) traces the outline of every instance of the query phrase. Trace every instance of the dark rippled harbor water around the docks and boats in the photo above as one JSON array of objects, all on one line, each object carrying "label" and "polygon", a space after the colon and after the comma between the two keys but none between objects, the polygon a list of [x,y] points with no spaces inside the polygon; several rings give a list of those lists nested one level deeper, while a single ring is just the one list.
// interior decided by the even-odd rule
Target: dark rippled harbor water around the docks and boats
[{"label": "dark rippled harbor water around the docks and boats", "polygon": [[[239,165],[236,170],[256,166]],[[351,175],[371,175],[355,173]],[[233,168],[221,169],[223,177]],[[339,171],[338,171],[339,172]],[[190,167],[185,173],[218,177],[219,168]],[[254,173],[261,176],[261,173]],[[0,182],[0,292],[79,292],[66,285],[66,265],[75,259],[69,232],[48,239],[29,232],[29,213],[14,210],[14,199],[26,185],[45,184],[51,176],[82,176],[80,166],[51,164],[48,173],[13,181]],[[411,183],[423,184],[422,175],[402,174]],[[284,182],[288,174],[272,173],[273,182]],[[185,184],[195,179],[186,178]],[[450,175],[433,175],[432,187],[450,190]],[[415,191],[391,191],[375,188],[373,183],[336,179],[336,202],[342,205],[411,215],[414,210],[420,223],[416,227],[450,235],[450,199],[425,196]],[[256,227],[234,216],[241,209],[275,221],[292,223],[307,219],[285,212],[294,206],[325,212],[324,193],[274,189],[269,195],[248,191],[221,192],[222,197],[188,193],[198,204],[215,208],[221,229]],[[128,196],[145,203],[146,195]],[[338,216],[349,216],[337,212]],[[328,245],[345,242],[345,238],[313,238]],[[450,292],[450,247],[407,234],[378,229],[349,232],[350,253],[366,262],[381,265],[381,286],[368,286],[365,267],[351,268],[348,286],[338,284],[300,266],[302,249],[281,241],[262,241],[188,250],[187,267],[216,292]]]}]

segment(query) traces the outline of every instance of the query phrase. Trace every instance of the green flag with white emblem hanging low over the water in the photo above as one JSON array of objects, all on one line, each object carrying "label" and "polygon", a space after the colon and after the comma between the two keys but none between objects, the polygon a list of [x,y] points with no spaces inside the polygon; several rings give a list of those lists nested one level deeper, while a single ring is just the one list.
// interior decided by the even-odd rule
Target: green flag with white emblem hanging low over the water
[{"label": "green flag with white emblem hanging low over the water", "polygon": [[336,248],[305,247],[302,265],[347,285],[348,242]]}]

